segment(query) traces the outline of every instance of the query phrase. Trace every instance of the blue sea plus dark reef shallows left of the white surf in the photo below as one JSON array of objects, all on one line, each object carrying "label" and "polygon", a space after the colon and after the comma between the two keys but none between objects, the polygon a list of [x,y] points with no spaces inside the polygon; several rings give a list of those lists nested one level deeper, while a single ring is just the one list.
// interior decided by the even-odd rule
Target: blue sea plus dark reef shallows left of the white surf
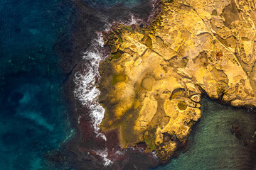
[{"label": "blue sea plus dark reef shallows left of the white surf", "polygon": [[131,11],[146,16],[142,3],[0,1],[0,170],[70,169],[58,161],[75,134],[65,85],[95,31]]}]

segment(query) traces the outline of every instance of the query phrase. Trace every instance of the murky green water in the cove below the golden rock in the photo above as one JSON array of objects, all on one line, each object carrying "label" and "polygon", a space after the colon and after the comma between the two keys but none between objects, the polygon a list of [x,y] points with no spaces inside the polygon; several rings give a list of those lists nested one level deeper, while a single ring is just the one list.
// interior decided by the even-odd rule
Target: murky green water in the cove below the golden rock
[{"label": "murky green water in the cove below the golden rock", "polygon": [[256,113],[204,98],[202,118],[189,137],[190,148],[156,170],[253,169],[256,149],[243,146],[242,141],[231,134],[233,123],[242,128],[242,138],[250,140],[256,130]]}]

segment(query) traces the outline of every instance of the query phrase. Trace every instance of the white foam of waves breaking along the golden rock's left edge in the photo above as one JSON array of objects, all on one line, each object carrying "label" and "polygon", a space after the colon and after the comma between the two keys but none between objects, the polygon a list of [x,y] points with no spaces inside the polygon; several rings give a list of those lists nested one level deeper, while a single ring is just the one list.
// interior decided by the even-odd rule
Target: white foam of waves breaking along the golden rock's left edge
[{"label": "white foam of waves breaking along the golden rock's left edge", "polygon": [[[139,18],[135,18],[131,15],[131,18],[128,21],[119,22],[124,25],[132,25],[135,23],[140,23]],[[106,31],[109,31],[112,24],[105,26]],[[98,96],[100,95],[99,89],[97,89],[96,79],[100,79],[99,73],[99,64],[100,61],[105,60],[107,56],[99,52],[100,48],[104,45],[103,37],[101,33],[98,33],[98,37],[91,42],[89,50],[83,53],[82,59],[85,61],[82,64],[82,71],[75,74],[75,98],[78,98],[82,105],[87,106],[90,110],[90,117],[92,118],[93,128],[97,137],[102,137],[104,140],[107,140],[105,135],[99,132],[99,125],[104,118],[105,109],[100,106],[98,103]],[[80,123],[81,116],[78,117],[78,123]],[[97,155],[100,155],[105,163],[105,166],[108,166],[112,163],[110,159],[107,159],[107,148],[103,151],[97,151]],[[121,154],[120,152],[119,154]]]}]

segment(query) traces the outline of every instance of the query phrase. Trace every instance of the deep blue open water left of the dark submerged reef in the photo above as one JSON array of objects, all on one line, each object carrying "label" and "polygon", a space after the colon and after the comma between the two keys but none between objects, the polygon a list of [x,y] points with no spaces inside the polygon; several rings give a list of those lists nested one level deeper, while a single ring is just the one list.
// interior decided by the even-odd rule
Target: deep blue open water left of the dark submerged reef
[{"label": "deep blue open water left of the dark submerged reef", "polygon": [[44,169],[73,133],[58,39],[72,8],[58,0],[0,1],[0,169]]}]

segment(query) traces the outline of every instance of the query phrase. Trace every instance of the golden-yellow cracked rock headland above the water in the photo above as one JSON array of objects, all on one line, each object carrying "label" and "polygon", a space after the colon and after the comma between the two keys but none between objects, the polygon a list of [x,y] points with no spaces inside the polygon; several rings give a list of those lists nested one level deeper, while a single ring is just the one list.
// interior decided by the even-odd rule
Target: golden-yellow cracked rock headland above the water
[{"label": "golden-yellow cracked rock headland above the water", "polygon": [[100,64],[100,128],[170,157],[201,118],[201,94],[255,107],[254,0],[161,1],[150,26],[116,23]]}]

